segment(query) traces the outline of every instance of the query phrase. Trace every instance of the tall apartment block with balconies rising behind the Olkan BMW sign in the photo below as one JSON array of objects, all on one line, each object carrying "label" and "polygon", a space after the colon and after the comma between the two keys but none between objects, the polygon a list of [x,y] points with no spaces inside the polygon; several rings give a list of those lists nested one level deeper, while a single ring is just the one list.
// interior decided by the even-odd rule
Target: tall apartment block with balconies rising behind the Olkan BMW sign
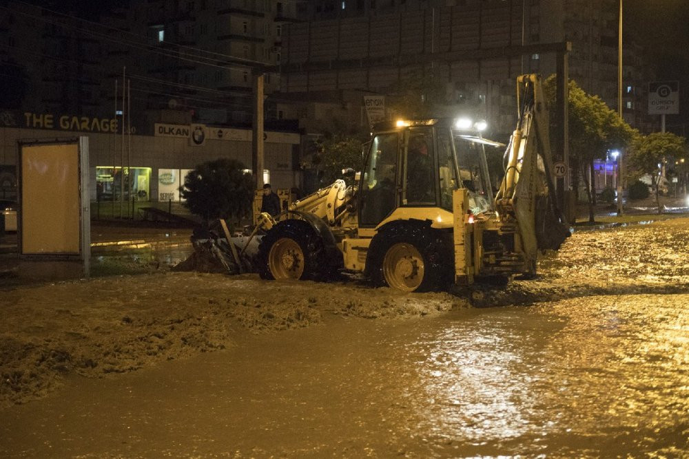
[{"label": "tall apartment block with balconies rising behind the Olkan BMW sign", "polygon": [[[274,0],[149,0],[103,18],[123,31],[127,43],[107,51],[112,80],[122,67],[158,121],[194,120],[248,124],[252,112],[251,72],[280,61],[282,29],[297,21],[299,2]],[[129,43],[139,38],[141,46]],[[174,83],[174,84],[173,84]],[[265,93],[278,89],[280,75],[265,74]],[[180,118],[181,117],[181,118]],[[150,124],[150,123],[148,123]]]}]

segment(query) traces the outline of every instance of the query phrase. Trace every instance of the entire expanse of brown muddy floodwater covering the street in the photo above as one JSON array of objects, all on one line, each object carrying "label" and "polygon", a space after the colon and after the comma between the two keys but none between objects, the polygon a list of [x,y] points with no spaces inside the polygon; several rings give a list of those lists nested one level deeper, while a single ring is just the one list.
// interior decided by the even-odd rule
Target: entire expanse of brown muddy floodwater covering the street
[{"label": "entire expanse of brown muddy floodwater covering the street", "polygon": [[256,275],[4,290],[0,457],[689,457],[689,219],[577,231],[539,273],[485,308]]}]

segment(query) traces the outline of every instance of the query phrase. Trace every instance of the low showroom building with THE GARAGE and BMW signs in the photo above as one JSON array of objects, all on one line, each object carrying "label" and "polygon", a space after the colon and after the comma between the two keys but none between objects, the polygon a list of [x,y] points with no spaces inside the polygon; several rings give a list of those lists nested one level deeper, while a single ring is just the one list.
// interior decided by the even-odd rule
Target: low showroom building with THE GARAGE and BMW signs
[{"label": "low showroom building with THE GARAGE and BMW signs", "polygon": [[[10,114],[4,115],[8,119]],[[155,135],[123,136],[117,132],[116,118],[18,115],[21,118],[15,117],[18,122],[11,127],[0,123],[4,173],[17,176],[19,141],[87,136],[93,201],[119,200],[121,195],[127,202],[178,201],[185,174],[202,162],[228,158],[251,167],[249,129],[158,123]],[[276,189],[299,186],[300,142],[299,134],[265,132],[265,182]]]}]

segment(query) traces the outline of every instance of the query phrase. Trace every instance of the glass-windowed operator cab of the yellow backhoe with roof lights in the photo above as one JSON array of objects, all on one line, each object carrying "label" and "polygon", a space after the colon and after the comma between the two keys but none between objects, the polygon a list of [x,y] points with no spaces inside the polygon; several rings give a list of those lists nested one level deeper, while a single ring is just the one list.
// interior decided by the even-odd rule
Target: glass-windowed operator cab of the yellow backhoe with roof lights
[{"label": "glass-windowed operator cab of the yellow backhoe with roof lights", "polygon": [[[452,211],[455,189],[470,191],[475,213],[493,205],[483,146],[453,120],[418,120],[374,131],[359,184],[359,226],[375,228],[396,209]],[[412,209],[421,209],[412,211]]]}]

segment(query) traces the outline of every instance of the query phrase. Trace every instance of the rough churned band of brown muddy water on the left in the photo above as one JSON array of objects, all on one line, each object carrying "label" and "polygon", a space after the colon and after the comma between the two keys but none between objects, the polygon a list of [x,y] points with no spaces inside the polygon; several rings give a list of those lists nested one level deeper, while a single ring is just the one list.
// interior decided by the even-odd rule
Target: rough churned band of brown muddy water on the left
[{"label": "rough churned band of brown muddy water on the left", "polygon": [[242,332],[306,327],[332,314],[400,318],[465,306],[447,293],[256,275],[159,273],[17,288],[0,299],[0,404],[43,396],[68,374],[102,377],[227,348]]}]

